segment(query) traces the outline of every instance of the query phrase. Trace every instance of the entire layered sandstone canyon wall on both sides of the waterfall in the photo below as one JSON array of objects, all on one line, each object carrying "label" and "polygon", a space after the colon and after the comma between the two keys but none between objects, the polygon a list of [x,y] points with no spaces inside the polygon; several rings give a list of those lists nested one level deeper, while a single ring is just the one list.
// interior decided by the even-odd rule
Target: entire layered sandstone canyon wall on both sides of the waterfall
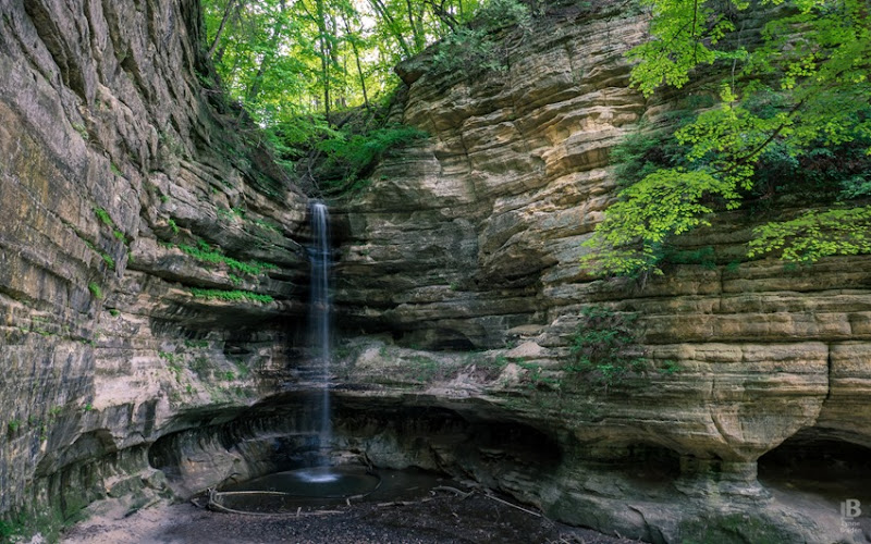
[{"label": "entire layered sandstone canyon wall on both sides of the waterfall", "polygon": [[[213,88],[197,2],[2,10],[0,515],[128,514],[303,462],[306,198]],[[430,136],[333,207],[334,456],[652,542],[863,542],[837,503],[869,475],[871,258],[747,259],[737,211],[646,284],[578,265],[610,150],[683,107],[628,88],[645,32],[562,4],[503,30],[504,71],[400,67],[393,116]],[[651,361],[610,387],[572,369],[593,305]],[[842,487],[790,491],[802,459]]]}]

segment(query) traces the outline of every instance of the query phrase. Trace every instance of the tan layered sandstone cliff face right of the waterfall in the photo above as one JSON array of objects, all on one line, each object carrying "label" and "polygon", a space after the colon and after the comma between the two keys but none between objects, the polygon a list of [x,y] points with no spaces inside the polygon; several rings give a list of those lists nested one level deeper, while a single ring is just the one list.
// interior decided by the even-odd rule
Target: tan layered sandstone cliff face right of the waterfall
[{"label": "tan layered sandstone cliff face right of the waterfall", "polygon": [[[580,444],[559,478],[517,492],[561,519],[653,540],[753,541],[762,533],[728,527],[756,511],[765,527],[788,527],[787,540],[863,539],[841,533],[843,498],[805,515],[771,498],[756,460],[799,431],[871,446],[858,404],[871,379],[871,259],[801,269],[749,260],[746,242],[765,218],[740,211],[680,240],[688,254],[710,256],[674,264],[664,277],[639,285],[587,275],[581,243],[616,193],[609,150],[642,121],[666,122],[680,97],[646,101],[628,88],[623,53],[643,38],[642,17],[568,9],[537,24],[520,45],[508,42],[504,73],[400,71],[408,88],[397,116],[430,138],[385,160],[371,186],[343,205],[342,323],[424,349],[519,344],[501,353],[502,381],[459,387],[452,380],[469,372],[466,364],[450,380],[427,381],[421,394],[463,391],[571,436],[565,447]],[[591,305],[638,316],[643,349],[662,372],[609,393],[565,372]],[[364,349],[357,361],[390,364],[370,356]],[[577,466],[630,446],[679,459],[671,498],[643,498],[637,483],[585,483],[602,477]],[[695,497],[694,514],[679,514],[680,496]],[[636,498],[652,509],[627,507]],[[694,526],[694,516],[719,521]]]}]

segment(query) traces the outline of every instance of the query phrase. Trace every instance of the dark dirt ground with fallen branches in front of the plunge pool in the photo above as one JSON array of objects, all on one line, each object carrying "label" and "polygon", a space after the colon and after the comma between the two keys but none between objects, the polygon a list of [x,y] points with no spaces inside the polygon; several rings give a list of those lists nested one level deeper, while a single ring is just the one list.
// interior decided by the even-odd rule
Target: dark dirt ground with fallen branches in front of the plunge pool
[{"label": "dark dirt ground with fallen branches in front of the plunge pool", "polygon": [[[160,543],[586,543],[638,542],[572,528],[492,496],[428,492],[414,500],[359,503],[328,508],[334,514],[249,516],[194,504],[156,505],[128,517],[110,514],[71,528],[65,544]],[[314,510],[311,510],[314,511]]]}]

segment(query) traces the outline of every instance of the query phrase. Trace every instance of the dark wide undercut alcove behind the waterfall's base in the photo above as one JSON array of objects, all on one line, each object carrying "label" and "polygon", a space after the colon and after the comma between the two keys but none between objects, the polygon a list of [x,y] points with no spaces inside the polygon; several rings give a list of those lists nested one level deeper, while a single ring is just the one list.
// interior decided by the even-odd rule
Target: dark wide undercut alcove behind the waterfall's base
[{"label": "dark wide undercut alcove behind the waterfall's base", "polygon": [[[185,430],[151,445],[149,462],[188,492],[311,467],[324,452],[330,462],[419,468],[494,489],[501,487],[503,474],[544,477],[562,462],[560,444],[548,432],[503,419],[492,408],[377,396],[332,396],[333,433],[323,444],[317,397],[312,391],[287,392],[233,415],[192,415]],[[236,468],[226,469],[228,462]],[[223,472],[212,478],[209,467]]]}]

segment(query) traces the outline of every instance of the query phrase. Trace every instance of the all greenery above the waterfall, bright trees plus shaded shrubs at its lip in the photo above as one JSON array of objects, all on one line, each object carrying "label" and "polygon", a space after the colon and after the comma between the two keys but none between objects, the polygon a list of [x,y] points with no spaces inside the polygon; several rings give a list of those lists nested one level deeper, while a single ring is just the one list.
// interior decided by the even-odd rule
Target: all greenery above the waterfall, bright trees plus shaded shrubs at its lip
[{"label": "all greenery above the waterfall, bright trees plus shaded shrubs at its lip", "polygon": [[[519,25],[520,0],[201,0],[204,49],[224,95],[266,131],[312,193],[359,188],[390,149],[422,136],[389,125],[393,69],[436,40],[437,70],[504,64],[490,34]],[[204,81],[207,85],[218,82]]]}]

